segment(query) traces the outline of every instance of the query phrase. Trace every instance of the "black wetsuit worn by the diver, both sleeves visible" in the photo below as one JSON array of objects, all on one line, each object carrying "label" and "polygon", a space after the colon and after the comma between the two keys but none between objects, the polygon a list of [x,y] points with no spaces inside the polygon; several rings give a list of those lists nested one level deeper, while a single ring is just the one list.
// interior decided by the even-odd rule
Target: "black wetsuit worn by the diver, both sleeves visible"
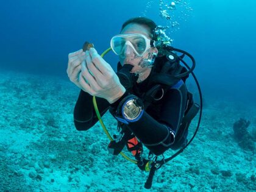
[{"label": "black wetsuit worn by the diver, both sleeves visible", "polygon": [[[154,71],[152,69],[152,71]],[[151,74],[152,74],[151,71]],[[132,89],[132,94],[140,98],[140,92],[145,92],[146,84],[150,76],[136,84]],[[74,124],[77,130],[88,130],[98,122],[96,112],[93,107],[93,96],[84,91],[80,91],[74,108]],[[101,116],[110,108],[106,99],[97,98],[99,112]],[[120,102],[120,99],[113,105]],[[127,127],[150,151],[155,155],[160,155],[171,148],[173,137],[170,129],[176,133],[184,116],[187,107],[187,87],[183,80],[169,88],[163,98],[155,104],[149,105],[141,118],[129,123]],[[183,135],[186,140],[187,132]]]}]

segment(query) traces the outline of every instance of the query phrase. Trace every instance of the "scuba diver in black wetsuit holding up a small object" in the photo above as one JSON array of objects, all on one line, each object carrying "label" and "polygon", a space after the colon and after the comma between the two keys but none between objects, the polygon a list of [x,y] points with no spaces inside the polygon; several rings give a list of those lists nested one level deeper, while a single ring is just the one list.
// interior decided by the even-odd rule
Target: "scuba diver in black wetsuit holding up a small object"
[{"label": "scuba diver in black wetsuit holding up a small object", "polygon": [[151,157],[187,146],[188,127],[199,110],[185,84],[194,66],[187,70],[180,65],[185,54],[169,49],[169,40],[149,18],[131,18],[110,41],[119,56],[116,73],[93,45],[68,55],[66,72],[80,88],[74,107],[76,129],[88,130],[99,121],[95,97],[100,115],[109,110],[118,121],[119,135],[108,151],[118,155],[126,146],[141,170],[152,163],[143,157],[143,145]]}]

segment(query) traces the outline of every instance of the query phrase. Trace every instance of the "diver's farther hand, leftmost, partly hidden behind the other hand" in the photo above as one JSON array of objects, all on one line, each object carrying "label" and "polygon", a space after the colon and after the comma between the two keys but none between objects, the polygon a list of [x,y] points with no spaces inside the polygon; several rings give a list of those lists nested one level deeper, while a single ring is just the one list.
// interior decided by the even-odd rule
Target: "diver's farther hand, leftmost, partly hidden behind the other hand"
[{"label": "diver's farther hand, leftmost, partly hidden behind the other hand", "polygon": [[68,69],[66,73],[68,74],[69,80],[77,85],[80,89],[82,86],[79,84],[79,73],[81,72],[81,63],[85,60],[85,52],[83,49],[79,49],[76,52],[71,52],[68,54]]}]

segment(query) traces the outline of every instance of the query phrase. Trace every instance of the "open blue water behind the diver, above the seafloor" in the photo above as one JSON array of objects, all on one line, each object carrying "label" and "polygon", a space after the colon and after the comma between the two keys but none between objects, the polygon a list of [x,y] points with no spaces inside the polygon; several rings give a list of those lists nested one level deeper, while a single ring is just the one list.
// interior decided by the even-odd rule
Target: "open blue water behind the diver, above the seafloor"
[{"label": "open blue water behind the diver, above the seafloor", "polygon": [[[147,8],[148,2],[150,7]],[[232,101],[233,105],[226,108],[225,114],[232,119],[229,112],[242,108],[246,111],[240,113],[250,112],[255,126],[256,113],[250,106],[256,103],[256,1],[182,2],[188,2],[188,7],[193,10],[184,16],[181,13],[183,8],[176,4],[177,9],[172,13],[180,25],[179,28],[171,27],[168,34],[174,40],[172,46],[190,52],[196,59],[194,73],[201,84],[205,104],[211,106],[210,101],[219,102],[220,110],[227,106],[227,101]],[[169,24],[159,16],[159,1],[1,2],[0,70],[43,78],[49,75],[68,82],[66,68],[69,52],[82,48],[84,41],[91,41],[98,52],[103,52],[110,46],[110,38],[119,33],[124,21],[144,16],[145,10],[148,11],[146,16],[157,24]],[[109,54],[106,60],[116,69],[116,55]],[[47,79],[41,80],[44,82]],[[72,94],[72,104],[76,93]],[[238,102],[241,107],[236,106]],[[232,129],[235,118],[232,121],[229,119],[229,129]],[[214,122],[226,125],[222,121],[225,119]],[[207,126],[210,125],[206,123]],[[221,191],[221,188],[218,190]]]}]

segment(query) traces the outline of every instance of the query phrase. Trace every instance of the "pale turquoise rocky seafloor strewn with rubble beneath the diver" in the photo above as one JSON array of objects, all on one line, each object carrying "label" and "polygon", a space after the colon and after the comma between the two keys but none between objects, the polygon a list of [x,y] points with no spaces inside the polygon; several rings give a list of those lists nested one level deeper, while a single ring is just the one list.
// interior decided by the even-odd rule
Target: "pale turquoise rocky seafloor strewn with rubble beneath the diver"
[{"label": "pale turquoise rocky seafloor strewn with rubble beneath the diver", "polygon": [[[157,170],[146,190],[148,172],[108,154],[109,141],[99,123],[86,132],[76,130],[78,94],[68,79],[0,73],[0,191],[256,191],[255,149],[241,148],[233,132],[233,124],[246,118],[255,139],[255,102],[205,99],[196,138]],[[116,133],[108,112],[102,119]]]}]

